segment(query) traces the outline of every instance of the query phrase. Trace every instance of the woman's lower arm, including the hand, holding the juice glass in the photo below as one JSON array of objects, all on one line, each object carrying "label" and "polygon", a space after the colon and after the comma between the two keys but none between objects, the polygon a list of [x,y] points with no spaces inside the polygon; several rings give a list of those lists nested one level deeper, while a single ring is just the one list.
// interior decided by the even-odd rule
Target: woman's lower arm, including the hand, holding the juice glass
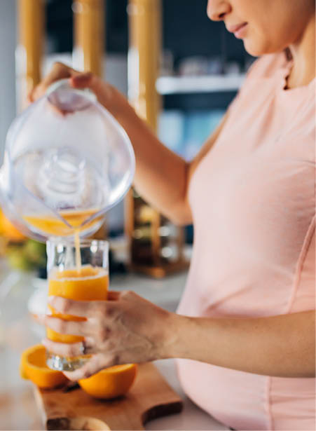
[{"label": "woman's lower arm, including the hand, holding the juice glass", "polygon": [[[85,337],[92,359],[71,374],[88,377],[115,364],[170,357],[280,377],[315,375],[315,312],[260,318],[201,318],[169,313],[134,292],[109,292],[109,301],[71,301],[55,297],[59,313],[85,317],[66,322],[43,317],[43,324],[62,334]],[[45,340],[57,355],[82,354],[82,343]]]}]

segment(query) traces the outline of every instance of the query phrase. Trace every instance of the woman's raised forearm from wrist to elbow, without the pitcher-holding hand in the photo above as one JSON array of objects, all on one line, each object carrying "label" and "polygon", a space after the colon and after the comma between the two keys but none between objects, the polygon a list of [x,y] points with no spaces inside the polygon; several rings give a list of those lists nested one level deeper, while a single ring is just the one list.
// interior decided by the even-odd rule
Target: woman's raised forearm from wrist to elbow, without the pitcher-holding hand
[{"label": "woman's raised forearm from wrist to elbow, without the pitcher-holding hand", "polygon": [[188,164],[157,139],[118,90],[112,91],[109,110],[128,133],[135,151],[137,191],[173,221],[190,223],[186,201]]}]

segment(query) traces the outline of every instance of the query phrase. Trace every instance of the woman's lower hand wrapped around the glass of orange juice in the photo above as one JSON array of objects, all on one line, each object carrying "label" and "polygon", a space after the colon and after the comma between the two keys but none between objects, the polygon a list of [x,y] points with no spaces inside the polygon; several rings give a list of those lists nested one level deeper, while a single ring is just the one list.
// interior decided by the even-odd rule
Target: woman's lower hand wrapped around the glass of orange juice
[{"label": "woman's lower hand wrapped around the glass of orange juice", "polygon": [[139,363],[171,356],[177,315],[159,308],[134,292],[109,292],[107,301],[73,301],[50,297],[56,313],[85,317],[85,321],[61,320],[46,315],[41,323],[60,334],[83,336],[79,343],[56,343],[46,338],[44,346],[61,356],[92,355],[81,369],[65,373],[72,381],[87,378],[117,364]]}]

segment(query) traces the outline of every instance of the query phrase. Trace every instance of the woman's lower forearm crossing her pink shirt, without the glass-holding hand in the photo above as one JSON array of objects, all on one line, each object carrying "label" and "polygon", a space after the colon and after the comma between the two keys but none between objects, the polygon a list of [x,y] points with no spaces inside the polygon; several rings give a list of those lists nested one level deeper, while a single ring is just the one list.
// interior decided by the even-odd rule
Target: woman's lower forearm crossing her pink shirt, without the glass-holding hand
[{"label": "woman's lower forearm crossing her pink shirt, without the glass-holding hand", "polygon": [[174,315],[172,333],[168,326],[165,357],[268,376],[315,376],[314,311],[261,318]]}]

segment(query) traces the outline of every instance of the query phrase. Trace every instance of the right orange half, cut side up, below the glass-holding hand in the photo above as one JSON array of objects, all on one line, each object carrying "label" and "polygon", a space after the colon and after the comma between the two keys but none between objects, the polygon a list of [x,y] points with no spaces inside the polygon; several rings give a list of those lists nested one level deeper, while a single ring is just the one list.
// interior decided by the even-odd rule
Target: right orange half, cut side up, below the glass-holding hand
[{"label": "right orange half, cut side up, below the glass-holding hand", "polygon": [[94,376],[83,378],[78,383],[92,397],[111,399],[128,392],[136,374],[136,364],[115,365],[99,371]]}]

